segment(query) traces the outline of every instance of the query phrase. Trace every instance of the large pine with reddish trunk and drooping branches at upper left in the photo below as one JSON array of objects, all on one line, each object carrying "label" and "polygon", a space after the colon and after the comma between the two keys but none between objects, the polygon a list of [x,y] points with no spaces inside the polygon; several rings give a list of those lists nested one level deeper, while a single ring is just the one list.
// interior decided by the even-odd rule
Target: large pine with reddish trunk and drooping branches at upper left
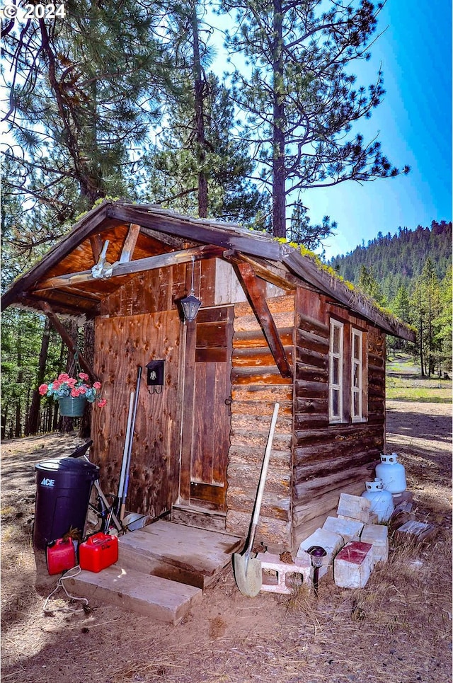
[{"label": "large pine with reddish trunk and drooping branches at upper left", "polygon": [[[6,191],[58,224],[105,195],[130,193],[134,147],[160,115],[166,57],[141,4],[68,0],[65,18],[5,36],[4,120],[16,145]],[[11,74],[9,76],[9,74]]]}]

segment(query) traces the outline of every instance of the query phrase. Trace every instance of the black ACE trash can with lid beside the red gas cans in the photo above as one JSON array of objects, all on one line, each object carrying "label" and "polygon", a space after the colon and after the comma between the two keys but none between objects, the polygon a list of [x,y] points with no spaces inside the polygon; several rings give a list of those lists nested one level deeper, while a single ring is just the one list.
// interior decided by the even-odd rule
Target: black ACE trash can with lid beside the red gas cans
[{"label": "black ACE trash can with lid beside the red gas cans", "polygon": [[71,528],[82,536],[98,466],[84,459],[62,457],[39,462],[35,470],[35,547],[45,550],[49,541],[61,538]]}]

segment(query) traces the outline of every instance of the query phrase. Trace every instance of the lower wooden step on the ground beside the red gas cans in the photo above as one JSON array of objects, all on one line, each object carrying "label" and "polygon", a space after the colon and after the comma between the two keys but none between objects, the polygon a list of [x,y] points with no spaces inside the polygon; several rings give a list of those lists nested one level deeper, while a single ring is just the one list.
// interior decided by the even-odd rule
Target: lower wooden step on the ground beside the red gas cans
[{"label": "lower wooden step on the ground beside the red gas cans", "polygon": [[169,624],[179,624],[203,597],[200,588],[126,571],[117,564],[98,573],[82,570],[76,577],[65,579],[64,585],[71,595],[96,598]]}]

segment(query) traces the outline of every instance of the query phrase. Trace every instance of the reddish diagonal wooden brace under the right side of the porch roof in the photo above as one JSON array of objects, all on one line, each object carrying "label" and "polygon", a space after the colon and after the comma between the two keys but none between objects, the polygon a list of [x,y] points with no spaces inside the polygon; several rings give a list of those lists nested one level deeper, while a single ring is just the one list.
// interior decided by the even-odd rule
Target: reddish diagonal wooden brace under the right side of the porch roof
[{"label": "reddish diagonal wooden brace under the right side of the porch roof", "polygon": [[248,302],[251,304],[253,313],[263,328],[263,333],[277,368],[280,370],[280,374],[285,379],[292,378],[291,366],[289,365],[277,326],[266,301],[265,282],[258,279],[250,263],[236,263],[236,270],[239,275],[239,282],[241,282],[243,291]]}]

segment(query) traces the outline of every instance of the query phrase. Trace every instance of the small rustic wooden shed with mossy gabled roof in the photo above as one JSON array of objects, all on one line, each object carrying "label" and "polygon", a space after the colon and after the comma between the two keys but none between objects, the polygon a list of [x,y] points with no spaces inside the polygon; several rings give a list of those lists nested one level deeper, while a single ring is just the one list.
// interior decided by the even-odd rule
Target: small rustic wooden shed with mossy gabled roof
[{"label": "small rustic wooden shed with mossy gabled roof", "polygon": [[[192,280],[202,305],[187,322]],[[246,536],[278,401],[257,535],[274,551],[294,551],[340,492],[364,489],[385,449],[386,334],[413,340],[287,243],[124,202],[88,212],[2,304],[57,328],[62,315],[94,320],[104,490],[117,490],[137,366],[164,361],[161,393],[146,371],[139,391],[128,510]]]}]

